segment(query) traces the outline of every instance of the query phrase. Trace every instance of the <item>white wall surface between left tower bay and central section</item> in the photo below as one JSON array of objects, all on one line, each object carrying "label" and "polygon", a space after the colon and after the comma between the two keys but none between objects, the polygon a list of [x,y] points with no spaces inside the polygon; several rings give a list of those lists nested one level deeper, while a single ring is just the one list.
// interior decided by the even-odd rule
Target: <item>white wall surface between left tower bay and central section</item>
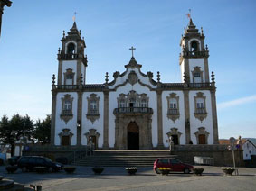
[{"label": "white wall surface between left tower bay and central section", "polygon": [[[90,94],[96,94],[97,97],[100,97],[99,100],[99,113],[100,118],[94,123],[91,123],[89,119],[87,119],[86,114],[88,110],[88,101],[87,97],[90,97]],[[96,129],[97,132],[100,133],[100,137],[98,140],[98,147],[103,146],[103,119],[104,119],[104,95],[102,92],[84,92],[82,95],[82,116],[81,116],[81,144],[86,145],[87,139],[84,135],[86,132],[89,132],[90,129]]]}]

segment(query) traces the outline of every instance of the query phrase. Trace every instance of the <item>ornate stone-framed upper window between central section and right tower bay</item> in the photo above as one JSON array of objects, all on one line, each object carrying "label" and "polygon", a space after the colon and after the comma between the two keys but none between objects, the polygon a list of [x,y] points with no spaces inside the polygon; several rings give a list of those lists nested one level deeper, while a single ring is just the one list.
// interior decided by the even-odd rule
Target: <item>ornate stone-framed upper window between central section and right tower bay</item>
[{"label": "ornate stone-framed upper window between central section and right tower bay", "polygon": [[167,118],[171,119],[175,123],[175,120],[180,117],[179,96],[175,93],[171,93],[170,96],[166,96],[166,98],[168,103]]}]

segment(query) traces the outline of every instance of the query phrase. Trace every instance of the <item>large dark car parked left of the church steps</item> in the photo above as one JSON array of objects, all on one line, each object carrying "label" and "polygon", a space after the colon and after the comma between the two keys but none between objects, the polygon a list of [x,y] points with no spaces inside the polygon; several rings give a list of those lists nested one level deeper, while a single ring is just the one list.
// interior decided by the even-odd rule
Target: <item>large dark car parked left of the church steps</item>
[{"label": "large dark car parked left of the church steps", "polygon": [[21,168],[23,172],[33,171],[35,167],[46,167],[49,171],[57,172],[62,169],[63,165],[60,163],[52,162],[51,159],[40,156],[24,156],[17,162],[18,168]]}]

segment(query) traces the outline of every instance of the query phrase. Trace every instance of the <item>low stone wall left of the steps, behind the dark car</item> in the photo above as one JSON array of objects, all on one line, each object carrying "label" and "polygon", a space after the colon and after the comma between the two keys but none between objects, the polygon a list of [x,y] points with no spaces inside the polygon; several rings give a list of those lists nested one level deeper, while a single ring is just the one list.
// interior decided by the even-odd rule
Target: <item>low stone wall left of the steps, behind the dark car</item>
[{"label": "low stone wall left of the steps, behind the dark car", "polygon": [[67,158],[68,162],[74,162],[82,157],[91,155],[93,150],[88,146],[52,146],[39,145],[31,146],[28,150],[23,150],[24,156],[43,156],[52,161],[58,158]]}]

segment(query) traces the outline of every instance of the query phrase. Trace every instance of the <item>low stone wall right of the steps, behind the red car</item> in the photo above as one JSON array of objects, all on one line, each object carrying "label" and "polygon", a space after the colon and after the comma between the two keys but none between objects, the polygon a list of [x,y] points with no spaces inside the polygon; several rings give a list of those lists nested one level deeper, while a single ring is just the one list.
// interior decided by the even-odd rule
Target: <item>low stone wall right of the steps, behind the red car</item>
[{"label": "low stone wall right of the steps, behind the red car", "polygon": [[[194,164],[194,157],[210,157],[214,159],[214,166],[233,166],[232,151],[228,145],[175,145],[172,154],[178,159]],[[234,157],[237,167],[244,167],[242,150],[235,150]]]}]

